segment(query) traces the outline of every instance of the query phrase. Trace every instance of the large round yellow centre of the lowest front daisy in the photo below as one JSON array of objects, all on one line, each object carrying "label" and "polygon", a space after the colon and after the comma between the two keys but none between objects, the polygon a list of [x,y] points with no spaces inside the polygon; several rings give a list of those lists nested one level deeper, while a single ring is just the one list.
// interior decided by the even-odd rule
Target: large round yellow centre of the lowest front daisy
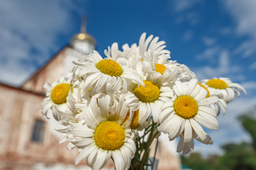
[{"label": "large round yellow centre of the lowest front daisy", "polygon": [[123,128],[117,122],[102,122],[95,131],[96,145],[104,150],[119,149],[125,140]]}]

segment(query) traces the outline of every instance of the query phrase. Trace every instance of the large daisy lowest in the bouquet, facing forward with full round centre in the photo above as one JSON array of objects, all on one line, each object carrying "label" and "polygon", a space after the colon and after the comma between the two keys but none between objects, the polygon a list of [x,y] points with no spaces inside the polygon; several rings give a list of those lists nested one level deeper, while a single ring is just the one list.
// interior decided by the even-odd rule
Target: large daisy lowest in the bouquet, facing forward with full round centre
[{"label": "large daisy lowest in the bouquet, facing forward with full round centre", "polygon": [[134,134],[129,128],[130,122],[123,122],[129,111],[123,95],[117,99],[114,98],[114,105],[110,107],[109,95],[93,96],[82,112],[86,124],[71,123],[68,132],[79,139],[67,140],[82,149],[75,158],[76,165],[86,158],[89,167],[99,170],[112,157],[116,170],[130,167],[136,152]]}]

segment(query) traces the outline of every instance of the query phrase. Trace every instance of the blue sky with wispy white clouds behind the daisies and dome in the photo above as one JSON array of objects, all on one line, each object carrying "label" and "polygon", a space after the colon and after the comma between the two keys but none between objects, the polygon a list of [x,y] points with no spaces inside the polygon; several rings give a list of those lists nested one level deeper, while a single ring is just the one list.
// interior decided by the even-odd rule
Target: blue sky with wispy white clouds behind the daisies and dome
[{"label": "blue sky with wispy white clouds behind the daisies and dome", "polygon": [[20,86],[79,33],[84,14],[102,56],[114,42],[121,48],[138,43],[143,32],[153,34],[199,80],[229,77],[247,90],[218,117],[219,130],[207,131],[213,146],[196,143],[195,151],[221,153],[223,143],[250,141],[236,116],[256,104],[255,9],[255,0],[3,0],[0,82]]}]

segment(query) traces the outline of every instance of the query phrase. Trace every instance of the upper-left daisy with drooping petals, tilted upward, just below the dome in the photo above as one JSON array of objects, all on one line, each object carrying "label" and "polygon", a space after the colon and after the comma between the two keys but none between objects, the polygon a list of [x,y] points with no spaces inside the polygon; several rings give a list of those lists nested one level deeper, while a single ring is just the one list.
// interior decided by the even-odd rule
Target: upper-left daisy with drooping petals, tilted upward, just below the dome
[{"label": "upper-left daisy with drooping petals, tilted upward, just below the dome", "polygon": [[106,90],[106,84],[112,77],[120,78],[122,81],[126,81],[125,79],[133,80],[144,86],[133,69],[122,66],[114,60],[103,60],[99,54],[83,56],[80,58],[80,61],[82,59],[83,62],[73,61],[73,65],[81,69],[81,75],[89,74],[84,82],[84,90],[92,88],[94,92],[103,92]]}]

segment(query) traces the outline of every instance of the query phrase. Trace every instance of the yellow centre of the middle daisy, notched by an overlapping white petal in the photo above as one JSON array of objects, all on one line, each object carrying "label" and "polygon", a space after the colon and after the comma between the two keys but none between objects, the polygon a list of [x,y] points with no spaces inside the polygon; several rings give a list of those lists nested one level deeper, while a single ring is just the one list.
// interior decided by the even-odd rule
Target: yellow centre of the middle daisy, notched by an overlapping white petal
[{"label": "yellow centre of the middle daisy, notched by an overlapping white petal", "polygon": [[143,86],[139,86],[138,84],[134,88],[134,95],[139,98],[139,101],[150,103],[158,99],[159,97],[159,87],[152,81],[143,81],[145,84],[145,88]]}]

